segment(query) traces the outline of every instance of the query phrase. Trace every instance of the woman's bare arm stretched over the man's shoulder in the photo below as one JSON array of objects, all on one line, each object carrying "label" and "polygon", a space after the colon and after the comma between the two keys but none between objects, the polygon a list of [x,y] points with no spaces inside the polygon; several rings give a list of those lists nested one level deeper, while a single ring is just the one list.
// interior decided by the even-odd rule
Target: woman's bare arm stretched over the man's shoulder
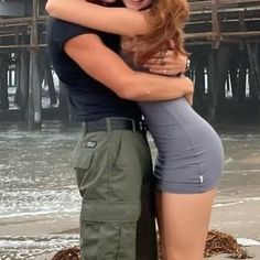
[{"label": "woman's bare arm stretched over the man's shoulder", "polygon": [[45,9],[54,18],[108,33],[134,36],[150,30],[145,12],[127,8],[106,8],[85,0],[48,0]]}]

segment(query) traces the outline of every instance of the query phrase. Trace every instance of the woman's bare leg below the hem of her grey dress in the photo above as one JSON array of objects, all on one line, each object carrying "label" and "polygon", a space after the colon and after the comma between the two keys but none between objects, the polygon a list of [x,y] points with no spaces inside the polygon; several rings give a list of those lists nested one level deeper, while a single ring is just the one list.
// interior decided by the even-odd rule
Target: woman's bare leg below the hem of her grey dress
[{"label": "woman's bare leg below the hem of her grey dress", "polygon": [[[203,260],[216,189],[199,194],[161,193],[159,223],[163,260]],[[164,250],[163,250],[164,251]]]}]

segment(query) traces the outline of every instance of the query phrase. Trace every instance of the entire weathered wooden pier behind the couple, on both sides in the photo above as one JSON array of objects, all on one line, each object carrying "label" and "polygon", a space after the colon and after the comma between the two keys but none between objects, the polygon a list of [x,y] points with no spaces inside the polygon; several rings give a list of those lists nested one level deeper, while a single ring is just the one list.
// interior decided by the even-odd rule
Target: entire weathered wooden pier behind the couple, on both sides
[{"label": "entire weathered wooden pier behind the couple, on both sides", "polygon": [[[41,128],[47,111],[68,117],[46,55],[45,2],[0,2],[0,120],[17,115],[30,129]],[[185,32],[195,109],[212,122],[241,111],[259,117],[260,0],[189,2]]]}]

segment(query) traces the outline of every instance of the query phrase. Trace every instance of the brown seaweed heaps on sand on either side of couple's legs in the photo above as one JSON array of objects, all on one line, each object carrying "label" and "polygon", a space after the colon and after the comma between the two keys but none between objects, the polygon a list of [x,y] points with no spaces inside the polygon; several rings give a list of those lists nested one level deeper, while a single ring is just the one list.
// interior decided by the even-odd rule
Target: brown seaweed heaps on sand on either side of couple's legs
[{"label": "brown seaweed heaps on sand on either side of couple's legs", "polygon": [[[160,245],[160,238],[158,237],[158,239]],[[252,256],[249,256],[248,251],[245,250],[232,236],[216,230],[209,230],[207,235],[204,257],[209,258],[220,253],[231,253],[229,256],[229,258],[231,259],[253,258]],[[79,260],[79,259],[80,259],[79,249],[77,247],[63,249],[52,258],[52,260]]]}]

